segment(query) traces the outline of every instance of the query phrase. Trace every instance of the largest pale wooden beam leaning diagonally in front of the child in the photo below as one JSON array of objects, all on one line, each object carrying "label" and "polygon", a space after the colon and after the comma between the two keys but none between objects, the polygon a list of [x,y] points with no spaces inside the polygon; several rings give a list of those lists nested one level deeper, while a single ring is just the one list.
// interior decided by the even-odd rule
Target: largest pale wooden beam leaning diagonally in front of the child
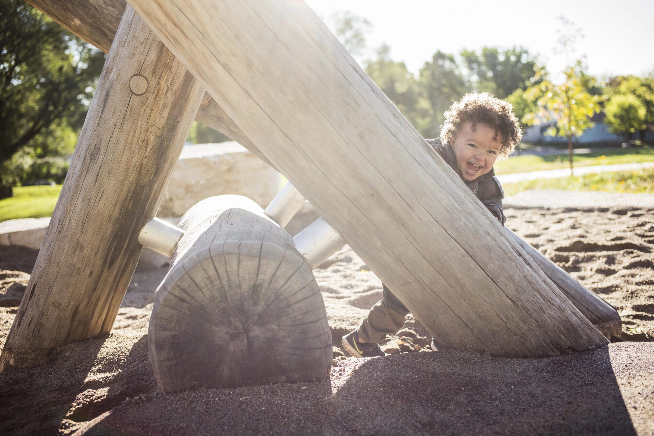
[{"label": "largest pale wooden beam leaning diagonally in front of the child", "polygon": [[128,3],[439,343],[607,343],[303,2]]}]

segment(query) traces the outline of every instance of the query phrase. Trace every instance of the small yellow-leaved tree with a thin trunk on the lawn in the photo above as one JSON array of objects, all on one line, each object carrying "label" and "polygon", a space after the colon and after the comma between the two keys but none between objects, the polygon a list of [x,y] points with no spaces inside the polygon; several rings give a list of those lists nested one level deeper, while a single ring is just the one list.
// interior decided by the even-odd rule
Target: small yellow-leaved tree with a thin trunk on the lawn
[{"label": "small yellow-leaved tree with a thin trunk on the lawn", "polygon": [[560,85],[545,80],[526,90],[525,98],[536,102],[537,109],[525,114],[523,122],[531,126],[542,121],[555,121],[545,134],[568,138],[572,173],[572,139],[594,126],[590,118],[600,112],[602,96],[589,93],[589,89],[594,87],[594,80],[583,73],[581,61],[567,67],[563,73],[565,81]]}]

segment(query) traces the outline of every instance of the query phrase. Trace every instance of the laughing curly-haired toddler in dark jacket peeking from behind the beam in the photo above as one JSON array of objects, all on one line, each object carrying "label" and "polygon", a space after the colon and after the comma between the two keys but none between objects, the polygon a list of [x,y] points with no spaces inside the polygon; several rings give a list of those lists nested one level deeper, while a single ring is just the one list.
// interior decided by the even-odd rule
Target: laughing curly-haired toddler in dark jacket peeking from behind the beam
[{"label": "laughing curly-haired toddler in dark jacket peeking from behind the beam", "polygon": [[[504,191],[492,166],[507,158],[522,139],[510,103],[483,93],[468,93],[443,114],[439,139],[427,140],[502,226]],[[383,285],[375,304],[358,329],[343,336],[343,348],[355,358],[385,356],[379,347],[388,333],[404,325],[409,310]],[[432,350],[437,344],[432,340]]]}]

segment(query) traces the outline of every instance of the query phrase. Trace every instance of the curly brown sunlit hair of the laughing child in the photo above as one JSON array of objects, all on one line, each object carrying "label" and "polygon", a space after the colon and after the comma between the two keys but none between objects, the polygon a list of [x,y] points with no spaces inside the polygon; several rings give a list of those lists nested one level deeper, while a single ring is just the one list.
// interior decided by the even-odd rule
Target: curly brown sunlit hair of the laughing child
[{"label": "curly brown sunlit hair of the laughing child", "polygon": [[502,134],[502,147],[498,159],[508,158],[523,138],[518,118],[513,114],[513,105],[489,92],[469,92],[445,111],[443,126],[441,126],[441,143],[447,144],[452,141],[458,129],[466,122],[472,123],[473,130],[477,123],[487,124],[491,129],[495,129],[496,141],[498,134]]}]

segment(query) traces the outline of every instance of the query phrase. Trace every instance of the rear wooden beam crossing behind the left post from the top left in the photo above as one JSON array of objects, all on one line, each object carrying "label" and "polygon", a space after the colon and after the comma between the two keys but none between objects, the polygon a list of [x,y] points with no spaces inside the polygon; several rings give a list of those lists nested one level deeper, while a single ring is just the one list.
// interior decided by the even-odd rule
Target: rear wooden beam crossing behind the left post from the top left
[{"label": "rear wooden beam crossing behind the left post from the top left", "polygon": [[[127,4],[125,0],[27,0],[27,3],[105,53],[111,48]],[[196,121],[227,135],[272,165],[209,93],[202,99]]]}]

